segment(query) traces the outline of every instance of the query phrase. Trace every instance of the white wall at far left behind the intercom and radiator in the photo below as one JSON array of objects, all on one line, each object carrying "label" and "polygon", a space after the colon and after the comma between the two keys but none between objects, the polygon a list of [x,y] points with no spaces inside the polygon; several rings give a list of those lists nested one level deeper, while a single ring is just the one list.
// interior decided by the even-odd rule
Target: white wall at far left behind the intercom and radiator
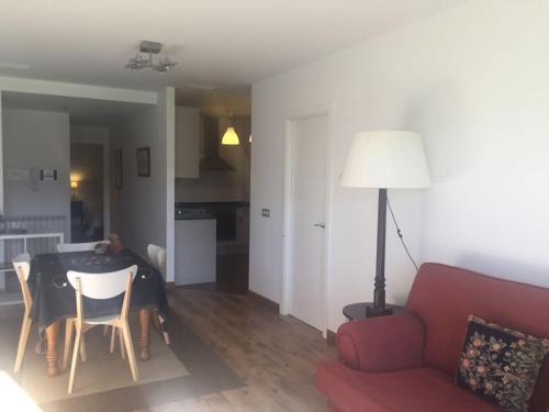
[{"label": "white wall at far left behind the intercom and radiator", "polygon": [[[31,110],[3,109],[3,190],[5,215],[65,215],[70,238],[69,116]],[[9,169],[56,169],[56,181],[8,179]]]}]

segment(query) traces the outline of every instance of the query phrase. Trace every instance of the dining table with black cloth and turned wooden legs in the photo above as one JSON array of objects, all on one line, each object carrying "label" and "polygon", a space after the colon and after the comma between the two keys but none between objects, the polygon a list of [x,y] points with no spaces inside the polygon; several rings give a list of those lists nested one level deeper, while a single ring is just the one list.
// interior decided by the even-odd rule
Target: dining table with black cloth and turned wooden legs
[{"label": "dining table with black cloth and turned wooden legs", "polygon": [[[137,265],[137,274],[132,282],[131,311],[139,316],[139,357],[149,358],[148,331],[153,310],[156,310],[166,330],[168,322],[168,299],[166,285],[158,269],[130,249],[121,253],[70,252],[38,254],[31,261],[29,289],[32,296],[31,318],[37,325],[41,342],[46,339],[46,363],[48,376],[59,374],[57,342],[63,320],[75,318],[76,293],[67,278],[69,270],[103,274],[117,271]],[[97,300],[83,297],[86,318],[120,313],[123,294]],[[155,313],[156,315],[156,313]]]}]

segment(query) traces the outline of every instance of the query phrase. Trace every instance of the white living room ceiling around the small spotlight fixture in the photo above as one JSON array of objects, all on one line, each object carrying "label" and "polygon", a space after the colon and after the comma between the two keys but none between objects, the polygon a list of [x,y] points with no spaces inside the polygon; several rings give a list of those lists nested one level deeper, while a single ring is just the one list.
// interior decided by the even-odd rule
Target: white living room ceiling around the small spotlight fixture
[{"label": "white living room ceiling around the small spotlight fixture", "polygon": [[[136,89],[249,85],[463,0],[0,0],[0,69]],[[142,40],[179,62],[165,78],[123,69]],[[192,94],[192,93],[190,93]]]}]

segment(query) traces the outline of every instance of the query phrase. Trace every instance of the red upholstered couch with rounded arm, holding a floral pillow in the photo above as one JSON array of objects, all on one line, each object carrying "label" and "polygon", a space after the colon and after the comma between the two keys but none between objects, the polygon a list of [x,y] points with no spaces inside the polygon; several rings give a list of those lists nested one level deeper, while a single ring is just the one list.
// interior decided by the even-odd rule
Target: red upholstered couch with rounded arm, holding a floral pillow
[{"label": "red upholstered couch with rounded arm, holding a floral pillow", "polygon": [[[339,327],[339,361],[316,370],[332,411],[500,411],[455,385],[468,316],[549,337],[549,289],[456,267],[424,264],[405,308]],[[548,408],[549,356],[530,410]]]}]

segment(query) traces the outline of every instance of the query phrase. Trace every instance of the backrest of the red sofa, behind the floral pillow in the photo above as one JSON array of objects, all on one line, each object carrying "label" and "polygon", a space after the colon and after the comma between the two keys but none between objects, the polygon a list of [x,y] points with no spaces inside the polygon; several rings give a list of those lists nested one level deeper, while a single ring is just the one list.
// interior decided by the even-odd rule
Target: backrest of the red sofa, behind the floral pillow
[{"label": "backrest of the red sofa, behind the floral pillow", "polygon": [[[549,289],[457,267],[422,265],[406,309],[415,313],[425,326],[424,363],[451,375],[458,367],[470,314],[533,336],[549,338]],[[533,401],[549,403],[549,356],[537,388],[536,400],[533,398]],[[538,392],[542,388],[547,397],[544,394],[540,399],[541,393]]]}]

